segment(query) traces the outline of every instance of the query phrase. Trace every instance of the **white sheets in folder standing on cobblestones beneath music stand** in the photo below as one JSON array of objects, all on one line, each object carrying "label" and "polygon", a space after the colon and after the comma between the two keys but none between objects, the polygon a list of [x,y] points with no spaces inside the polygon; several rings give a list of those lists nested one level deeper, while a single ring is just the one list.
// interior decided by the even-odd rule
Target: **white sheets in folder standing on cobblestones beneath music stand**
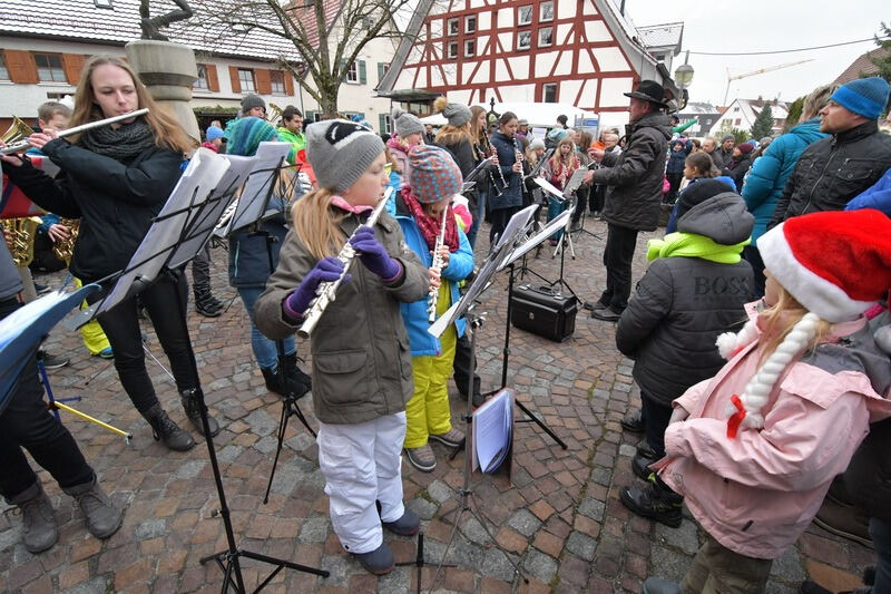
[{"label": "white sheets in folder standing on cobblestones beneath music stand", "polygon": [[473,470],[491,474],[507,458],[513,431],[513,390],[507,388],[473,411]]}]

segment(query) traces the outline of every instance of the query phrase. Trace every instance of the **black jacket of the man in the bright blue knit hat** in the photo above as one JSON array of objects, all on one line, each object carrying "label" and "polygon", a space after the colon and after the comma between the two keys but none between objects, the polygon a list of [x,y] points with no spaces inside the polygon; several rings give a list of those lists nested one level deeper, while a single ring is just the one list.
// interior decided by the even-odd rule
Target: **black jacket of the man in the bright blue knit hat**
[{"label": "black jacket of the man in the bright blue knit hat", "polygon": [[795,164],[767,228],[800,214],[844,210],[889,167],[891,136],[875,121],[817,140]]}]

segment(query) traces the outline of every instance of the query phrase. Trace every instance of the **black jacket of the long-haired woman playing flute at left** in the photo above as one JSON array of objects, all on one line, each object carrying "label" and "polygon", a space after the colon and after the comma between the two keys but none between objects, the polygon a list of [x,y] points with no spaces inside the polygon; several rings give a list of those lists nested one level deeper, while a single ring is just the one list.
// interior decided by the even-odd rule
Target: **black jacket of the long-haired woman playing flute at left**
[{"label": "black jacket of the long-haired woman playing flute at left", "polygon": [[55,179],[27,163],[3,172],[41,208],[80,218],[71,274],[86,284],[124,270],[179,181],[183,156],[153,146],[120,162],[62,138],[42,152],[61,168]]}]

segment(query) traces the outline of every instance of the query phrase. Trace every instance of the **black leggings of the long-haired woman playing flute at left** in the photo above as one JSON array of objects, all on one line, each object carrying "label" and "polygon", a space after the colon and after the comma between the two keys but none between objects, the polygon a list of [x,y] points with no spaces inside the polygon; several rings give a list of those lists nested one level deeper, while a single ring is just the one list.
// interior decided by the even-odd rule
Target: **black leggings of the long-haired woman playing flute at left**
[{"label": "black leggings of the long-haired woman playing flute at left", "polygon": [[[199,388],[195,373],[188,327],[186,325],[186,292],[188,286],[182,273],[176,279],[165,274],[151,286],[139,293],[164,352],[170,361],[170,371],[176,387],[182,392]],[[94,296],[89,301],[97,301]],[[178,303],[177,303],[178,301]],[[136,410],[145,412],[156,403],[155,387],[146,370],[143,351],[143,334],[136,298],[130,298],[98,317],[111,350],[120,383],[130,397]]]}]

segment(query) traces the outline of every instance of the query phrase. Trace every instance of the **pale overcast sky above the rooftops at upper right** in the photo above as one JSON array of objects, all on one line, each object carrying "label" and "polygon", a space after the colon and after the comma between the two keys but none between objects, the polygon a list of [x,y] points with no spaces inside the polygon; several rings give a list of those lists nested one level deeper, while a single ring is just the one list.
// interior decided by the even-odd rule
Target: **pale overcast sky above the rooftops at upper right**
[{"label": "pale overcast sky above the rooftops at upper right", "polygon": [[[615,0],[616,4],[621,0]],[[822,46],[865,39],[879,32],[880,22],[891,23],[888,0],[626,0],[625,10],[638,27],[684,22],[682,49],[693,51],[767,51]],[[845,12],[845,7],[853,10]],[[812,58],[813,61],[755,75],[731,82],[727,103],[734,97],[755,99],[780,96],[792,101],[817,85],[831,82],[873,42],[838,48],[767,56],[695,56],[689,87],[692,101],[719,105],[731,75],[751,72]],[[674,58],[672,69],[684,64]]]}]

